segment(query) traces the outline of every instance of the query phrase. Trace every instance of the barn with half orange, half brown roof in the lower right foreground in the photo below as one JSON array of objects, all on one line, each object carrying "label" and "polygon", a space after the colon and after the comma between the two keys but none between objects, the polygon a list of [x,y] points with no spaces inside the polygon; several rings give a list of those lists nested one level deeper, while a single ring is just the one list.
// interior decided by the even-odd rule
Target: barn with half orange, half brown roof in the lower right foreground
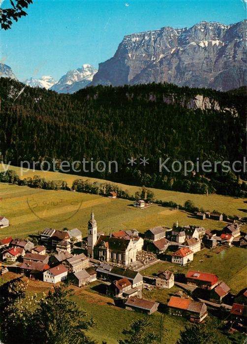
[{"label": "barn with half orange, half brown roof in the lower right foreground", "polygon": [[172,315],[185,316],[192,322],[201,322],[208,315],[205,303],[172,296],[167,304]]}]

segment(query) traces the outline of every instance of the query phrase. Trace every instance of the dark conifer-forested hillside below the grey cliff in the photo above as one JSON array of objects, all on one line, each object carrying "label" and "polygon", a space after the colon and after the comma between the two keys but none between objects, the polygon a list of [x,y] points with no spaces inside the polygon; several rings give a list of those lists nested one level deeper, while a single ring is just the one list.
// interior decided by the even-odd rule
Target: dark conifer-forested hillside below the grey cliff
[{"label": "dark conifer-forested hillside below the grey cliff", "polygon": [[[69,95],[26,86],[18,96],[23,87],[15,80],[0,79],[4,162],[116,160],[117,173],[82,174],[185,192],[246,195],[246,184],[240,181],[243,172],[221,172],[220,167],[217,172],[200,170],[187,176],[183,171],[159,172],[159,158],[171,158],[167,167],[173,160],[196,162],[197,158],[243,161],[245,89],[227,93],[150,84],[96,86]],[[198,95],[203,96],[203,105],[194,102]],[[131,156],[138,158],[133,167],[127,160]],[[139,163],[144,156],[149,159],[145,167]]]}]

